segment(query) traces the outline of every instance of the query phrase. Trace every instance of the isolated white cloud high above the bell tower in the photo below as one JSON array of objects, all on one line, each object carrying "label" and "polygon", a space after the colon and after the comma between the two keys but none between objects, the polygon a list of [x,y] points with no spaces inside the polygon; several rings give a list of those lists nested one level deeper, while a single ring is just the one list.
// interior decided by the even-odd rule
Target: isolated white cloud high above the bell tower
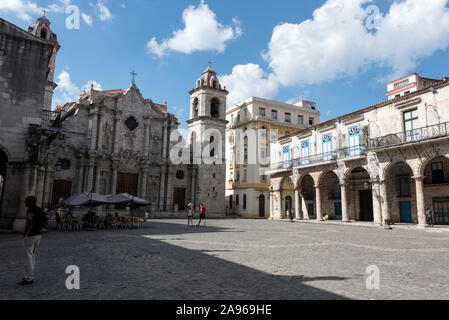
[{"label": "isolated white cloud high above the bell tower", "polygon": [[168,51],[185,54],[204,50],[223,52],[229,40],[242,35],[240,22],[236,18],[233,19],[235,27],[223,26],[204,2],[201,2],[198,7],[187,7],[182,14],[182,19],[185,28],[174,31],[172,38],[164,39],[160,44],[156,38],[148,42],[147,47],[151,53],[162,57]]}]

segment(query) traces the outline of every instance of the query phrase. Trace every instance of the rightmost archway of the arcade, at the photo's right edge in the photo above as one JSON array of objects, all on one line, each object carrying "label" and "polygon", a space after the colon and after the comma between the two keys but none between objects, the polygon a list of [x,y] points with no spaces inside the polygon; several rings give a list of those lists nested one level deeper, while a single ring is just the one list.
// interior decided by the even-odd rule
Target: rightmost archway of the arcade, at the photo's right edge
[{"label": "rightmost archway of the arcade, at the photo's right edge", "polygon": [[424,204],[433,223],[449,225],[449,159],[435,157],[424,168]]}]

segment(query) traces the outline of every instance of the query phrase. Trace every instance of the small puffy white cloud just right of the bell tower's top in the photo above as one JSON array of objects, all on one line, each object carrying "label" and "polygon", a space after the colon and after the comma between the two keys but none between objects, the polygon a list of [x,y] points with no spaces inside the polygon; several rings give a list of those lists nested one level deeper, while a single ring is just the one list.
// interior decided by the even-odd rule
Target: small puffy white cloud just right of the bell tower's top
[{"label": "small puffy white cloud just right of the bell tower's top", "polygon": [[228,106],[239,103],[250,96],[273,98],[279,84],[272,74],[266,74],[259,65],[237,65],[232,74],[220,77],[222,85],[229,91]]}]

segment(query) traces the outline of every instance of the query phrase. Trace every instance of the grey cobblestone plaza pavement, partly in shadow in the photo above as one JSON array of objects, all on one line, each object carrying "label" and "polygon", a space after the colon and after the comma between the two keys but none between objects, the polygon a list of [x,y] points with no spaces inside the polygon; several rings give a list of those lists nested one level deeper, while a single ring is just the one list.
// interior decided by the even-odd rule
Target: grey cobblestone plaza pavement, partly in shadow
[{"label": "grey cobblestone plaza pavement, partly in shadow", "polygon": [[[145,229],[50,232],[36,283],[18,287],[20,235],[0,235],[0,299],[449,299],[449,234],[267,220],[152,220]],[[81,290],[65,287],[68,265]],[[367,267],[380,289],[367,290]]]}]

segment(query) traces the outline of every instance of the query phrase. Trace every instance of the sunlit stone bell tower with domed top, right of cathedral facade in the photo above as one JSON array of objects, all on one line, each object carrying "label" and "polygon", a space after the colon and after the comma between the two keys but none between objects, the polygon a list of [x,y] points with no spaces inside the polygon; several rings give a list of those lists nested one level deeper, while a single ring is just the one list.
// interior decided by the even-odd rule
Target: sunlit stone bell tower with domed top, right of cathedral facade
[{"label": "sunlit stone bell tower with domed top, right of cathedral facade", "polygon": [[208,215],[225,213],[226,97],[217,73],[208,67],[190,94],[189,143],[192,164],[192,203]]}]

